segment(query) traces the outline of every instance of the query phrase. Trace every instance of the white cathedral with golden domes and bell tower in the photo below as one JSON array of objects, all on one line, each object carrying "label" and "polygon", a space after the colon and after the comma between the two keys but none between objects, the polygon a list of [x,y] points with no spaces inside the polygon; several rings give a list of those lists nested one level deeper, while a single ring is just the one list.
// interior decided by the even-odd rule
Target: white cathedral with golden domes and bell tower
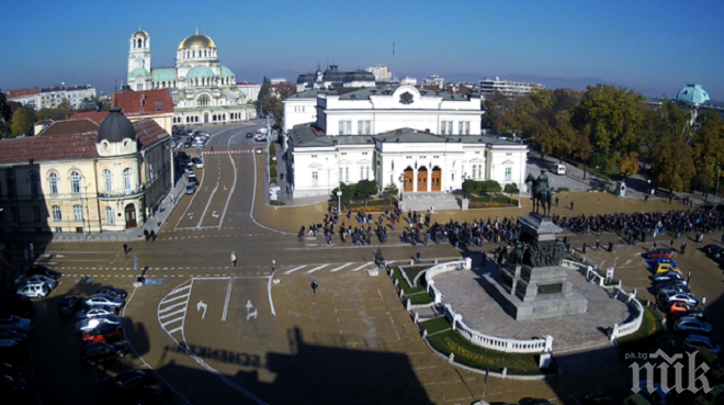
[{"label": "white cathedral with golden domes and bell tower", "polygon": [[256,100],[236,86],[236,75],[218,61],[212,38],[196,30],[176,53],[176,67],[151,68],[150,35],[143,30],[131,36],[128,87],[134,91],[169,89],[174,124],[231,123],[257,116]]}]

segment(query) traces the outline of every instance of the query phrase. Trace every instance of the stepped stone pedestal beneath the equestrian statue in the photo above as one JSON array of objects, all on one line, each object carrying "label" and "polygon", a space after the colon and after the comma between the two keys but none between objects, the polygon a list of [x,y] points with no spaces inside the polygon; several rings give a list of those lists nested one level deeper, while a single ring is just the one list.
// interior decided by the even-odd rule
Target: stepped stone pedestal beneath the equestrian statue
[{"label": "stepped stone pedestal beneath the equestrian statue", "polygon": [[559,262],[556,234],[563,229],[539,214],[520,222],[521,244],[511,254],[512,259],[498,267],[497,278],[483,275],[486,292],[517,320],[586,313],[588,300],[573,291],[570,270]]}]

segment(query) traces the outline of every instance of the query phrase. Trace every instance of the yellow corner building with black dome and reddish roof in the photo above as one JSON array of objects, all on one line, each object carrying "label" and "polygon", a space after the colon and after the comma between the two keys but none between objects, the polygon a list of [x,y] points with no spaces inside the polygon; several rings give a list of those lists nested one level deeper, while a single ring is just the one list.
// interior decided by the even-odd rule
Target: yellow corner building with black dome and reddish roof
[{"label": "yellow corner building with black dome and reddish roof", "polygon": [[0,233],[99,233],[143,225],[173,185],[169,134],[113,109],[99,126],[56,122],[0,142]]}]

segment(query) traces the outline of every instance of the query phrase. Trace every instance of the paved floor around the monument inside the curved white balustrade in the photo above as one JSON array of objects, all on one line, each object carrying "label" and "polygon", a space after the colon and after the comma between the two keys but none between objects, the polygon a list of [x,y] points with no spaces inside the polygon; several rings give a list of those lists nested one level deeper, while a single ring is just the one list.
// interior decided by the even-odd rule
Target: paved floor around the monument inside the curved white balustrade
[{"label": "paved floor around the monument inside the curved white balustrade", "polygon": [[495,277],[496,265],[486,262],[484,268],[452,271],[439,274],[434,283],[463,322],[471,328],[489,336],[528,340],[553,336],[553,352],[566,352],[581,348],[609,345],[606,335],[609,325],[629,319],[629,308],[597,284],[586,282],[586,278],[568,270],[573,289],[588,300],[586,314],[570,315],[540,320],[516,320],[483,289],[484,273]]}]

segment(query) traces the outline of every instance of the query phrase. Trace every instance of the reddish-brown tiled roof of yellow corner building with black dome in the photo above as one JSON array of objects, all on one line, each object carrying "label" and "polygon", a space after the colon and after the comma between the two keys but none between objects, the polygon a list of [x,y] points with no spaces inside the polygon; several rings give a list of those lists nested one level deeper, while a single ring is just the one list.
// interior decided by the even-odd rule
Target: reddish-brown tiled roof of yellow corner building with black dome
[{"label": "reddish-brown tiled roof of yellow corner building with black dome", "polygon": [[[66,123],[65,125],[58,125]],[[82,131],[93,126],[92,131]],[[138,135],[139,149],[145,150],[169,134],[156,121],[145,119],[133,124]],[[56,128],[54,132],[48,131]],[[61,131],[61,130],[66,131]],[[41,136],[0,140],[0,164],[23,164],[31,160],[92,159],[98,157],[99,125],[90,120],[60,121]]]}]

